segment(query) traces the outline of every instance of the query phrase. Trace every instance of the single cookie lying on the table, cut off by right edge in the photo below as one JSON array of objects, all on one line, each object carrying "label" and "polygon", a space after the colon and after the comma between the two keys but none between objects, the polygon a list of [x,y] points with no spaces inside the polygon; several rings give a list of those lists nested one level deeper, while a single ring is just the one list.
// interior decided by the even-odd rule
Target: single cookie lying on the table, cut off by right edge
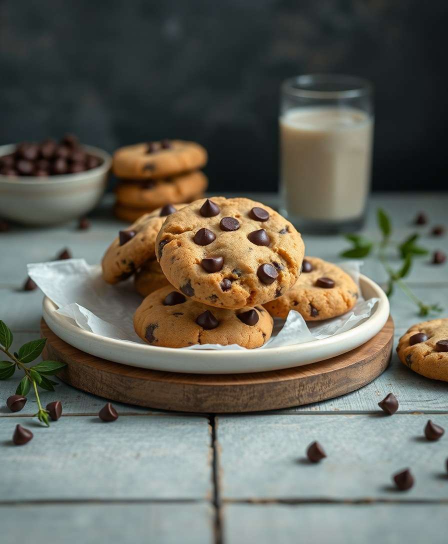
[{"label": "single cookie lying on the table, cut off by right edge", "polygon": [[448,381],[448,318],[417,323],[400,338],[400,361],[414,372]]}]

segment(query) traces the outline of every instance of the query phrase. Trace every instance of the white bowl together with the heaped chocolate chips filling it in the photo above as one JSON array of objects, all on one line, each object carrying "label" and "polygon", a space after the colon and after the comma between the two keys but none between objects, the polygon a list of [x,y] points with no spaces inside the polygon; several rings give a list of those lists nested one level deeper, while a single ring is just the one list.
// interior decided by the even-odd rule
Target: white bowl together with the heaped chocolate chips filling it
[{"label": "white bowl together with the heaped chocolate chips filling it", "polygon": [[0,146],[0,217],[51,225],[82,217],[101,199],[110,155],[74,135]]}]

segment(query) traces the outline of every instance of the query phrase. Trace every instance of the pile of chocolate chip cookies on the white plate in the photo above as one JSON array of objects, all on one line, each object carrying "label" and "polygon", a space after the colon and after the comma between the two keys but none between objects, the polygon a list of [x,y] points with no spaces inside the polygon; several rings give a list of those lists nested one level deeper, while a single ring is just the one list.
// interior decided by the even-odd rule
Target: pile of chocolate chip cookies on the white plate
[{"label": "pile of chocolate chip cookies on the white plate", "polygon": [[272,316],[327,319],[356,303],[348,274],[303,253],[300,233],[273,209],[214,197],[154,211],[120,232],[103,277],[116,283],[135,273],[147,296],[134,327],[151,345],[257,348],[271,336]]}]

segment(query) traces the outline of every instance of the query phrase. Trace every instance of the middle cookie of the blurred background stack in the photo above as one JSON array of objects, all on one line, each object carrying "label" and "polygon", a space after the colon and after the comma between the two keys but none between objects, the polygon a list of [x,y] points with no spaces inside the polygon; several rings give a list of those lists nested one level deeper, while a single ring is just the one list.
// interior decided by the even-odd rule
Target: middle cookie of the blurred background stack
[{"label": "middle cookie of the blurred background stack", "polygon": [[166,203],[191,202],[207,189],[202,172],[189,172],[163,180],[121,180],[115,188],[117,201],[132,208],[160,208]]}]

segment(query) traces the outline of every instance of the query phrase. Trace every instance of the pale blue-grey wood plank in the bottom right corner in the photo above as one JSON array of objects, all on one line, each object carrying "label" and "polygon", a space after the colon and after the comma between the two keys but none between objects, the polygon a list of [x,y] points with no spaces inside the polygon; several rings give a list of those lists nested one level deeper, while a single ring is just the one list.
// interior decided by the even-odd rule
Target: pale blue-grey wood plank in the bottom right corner
[{"label": "pale blue-grey wood plank in the bottom right corner", "polygon": [[227,542],[444,544],[446,505],[259,505],[224,510]]}]

